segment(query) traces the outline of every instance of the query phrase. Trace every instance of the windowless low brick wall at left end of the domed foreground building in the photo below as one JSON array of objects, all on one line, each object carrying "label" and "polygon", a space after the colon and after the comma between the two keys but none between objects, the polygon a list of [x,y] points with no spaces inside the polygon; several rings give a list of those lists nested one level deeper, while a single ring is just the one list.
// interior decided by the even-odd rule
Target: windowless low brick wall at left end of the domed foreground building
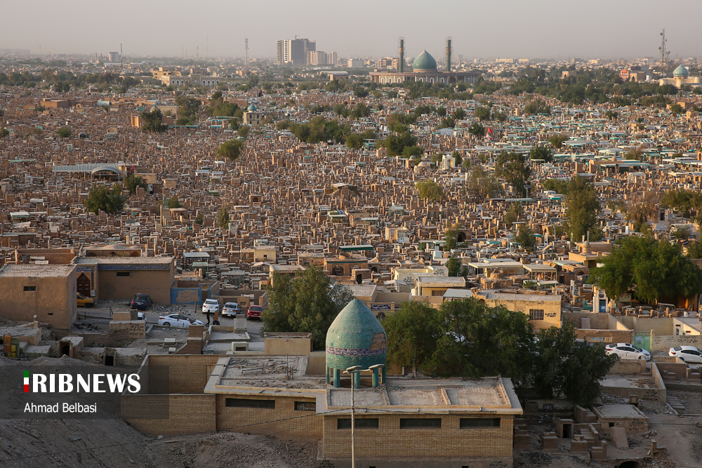
[{"label": "windowless low brick wall at left end of the domed foreground building", "polygon": [[[167,405],[167,407],[166,407]],[[163,410],[167,419],[144,419],[138,416]],[[216,430],[213,394],[171,394],[121,396],[121,416],[139,432],[153,436],[173,436]]]}]

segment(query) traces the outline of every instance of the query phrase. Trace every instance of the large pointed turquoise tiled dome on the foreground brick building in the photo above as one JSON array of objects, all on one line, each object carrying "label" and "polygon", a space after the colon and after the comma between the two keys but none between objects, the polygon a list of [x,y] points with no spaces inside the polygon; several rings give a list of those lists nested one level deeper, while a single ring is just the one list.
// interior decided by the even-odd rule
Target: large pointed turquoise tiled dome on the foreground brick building
[{"label": "large pointed turquoise tiled dome on the foreground brick building", "polygon": [[385,364],[388,339],[371,309],[354,299],[339,312],[326,332],[326,367],[367,369]]}]

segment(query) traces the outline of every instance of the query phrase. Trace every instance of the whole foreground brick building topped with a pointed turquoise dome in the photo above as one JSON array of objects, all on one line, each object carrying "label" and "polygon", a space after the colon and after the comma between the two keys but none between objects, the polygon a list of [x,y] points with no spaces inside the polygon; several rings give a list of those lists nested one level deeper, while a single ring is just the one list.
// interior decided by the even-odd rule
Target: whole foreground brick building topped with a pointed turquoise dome
[{"label": "whole foreground brick building topped with a pointed turquoise dome", "polygon": [[[357,466],[513,466],[523,411],[511,381],[386,370],[385,330],[357,299],[329,327],[324,352],[310,351],[308,333],[267,333],[265,348],[148,355],[139,370],[146,388],[121,396],[122,417],[146,434],[227,430],[319,441],[319,462],[346,468],[353,383]],[[344,373],[352,366],[360,373]],[[164,408],[168,417],[145,418],[147,408]]]}]

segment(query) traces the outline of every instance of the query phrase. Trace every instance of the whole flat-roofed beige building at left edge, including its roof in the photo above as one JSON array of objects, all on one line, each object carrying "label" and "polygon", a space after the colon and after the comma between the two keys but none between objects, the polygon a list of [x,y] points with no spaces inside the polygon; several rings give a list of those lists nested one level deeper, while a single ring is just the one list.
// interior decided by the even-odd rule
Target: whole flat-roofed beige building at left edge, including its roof
[{"label": "whole flat-roofed beige building at left edge, including its roof", "polygon": [[76,265],[4,265],[0,268],[0,316],[51,323],[68,330],[77,316]]}]

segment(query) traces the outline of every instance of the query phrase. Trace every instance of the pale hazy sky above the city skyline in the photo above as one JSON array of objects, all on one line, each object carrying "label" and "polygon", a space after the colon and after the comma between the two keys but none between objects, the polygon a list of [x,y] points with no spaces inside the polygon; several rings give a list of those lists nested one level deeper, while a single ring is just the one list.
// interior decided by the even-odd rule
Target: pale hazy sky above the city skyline
[{"label": "pale hazy sky above the city skyline", "polygon": [[[29,8],[28,8],[29,6]],[[701,0],[34,0],[0,9],[0,48],[32,53],[273,57],[276,39],[317,41],[339,57],[425,48],[472,58],[670,58],[702,55]]]}]

